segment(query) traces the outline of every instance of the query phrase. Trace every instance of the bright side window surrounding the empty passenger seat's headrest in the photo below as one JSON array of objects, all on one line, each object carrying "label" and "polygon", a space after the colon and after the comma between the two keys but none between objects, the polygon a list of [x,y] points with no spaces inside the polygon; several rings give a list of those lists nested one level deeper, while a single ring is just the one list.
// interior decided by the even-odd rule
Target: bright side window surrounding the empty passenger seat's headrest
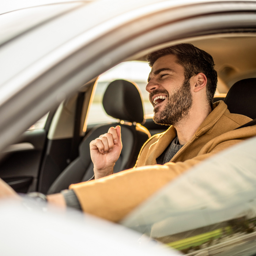
[{"label": "bright side window surrounding the empty passenger seat's headrest", "polygon": [[108,84],[116,79],[125,79],[138,84],[142,95],[144,114],[153,113],[153,107],[148,100],[148,92],[146,91],[147,78],[150,71],[151,68],[145,61],[127,61],[120,63],[99,76],[93,104],[88,117],[88,124],[116,121],[116,119],[106,114],[102,106],[103,95]]}]

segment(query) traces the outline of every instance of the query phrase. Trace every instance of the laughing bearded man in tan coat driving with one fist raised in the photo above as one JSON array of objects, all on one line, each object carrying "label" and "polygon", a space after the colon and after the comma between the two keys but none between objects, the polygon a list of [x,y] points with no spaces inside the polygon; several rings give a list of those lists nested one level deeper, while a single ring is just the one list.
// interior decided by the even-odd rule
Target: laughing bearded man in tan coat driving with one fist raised
[{"label": "laughing bearded man in tan coat driving with one fist raised", "polygon": [[[223,101],[212,104],[217,72],[208,53],[180,44],[149,54],[148,61],[152,70],[146,90],[154,106],[154,121],[172,126],[144,144],[135,168],[117,174],[112,173],[122,148],[121,131],[119,126],[110,128],[90,143],[95,180],[49,195],[49,203],[78,206],[120,221],[190,167],[256,135],[255,127],[234,130],[251,118],[231,114]],[[15,195],[3,182],[0,191]]]}]

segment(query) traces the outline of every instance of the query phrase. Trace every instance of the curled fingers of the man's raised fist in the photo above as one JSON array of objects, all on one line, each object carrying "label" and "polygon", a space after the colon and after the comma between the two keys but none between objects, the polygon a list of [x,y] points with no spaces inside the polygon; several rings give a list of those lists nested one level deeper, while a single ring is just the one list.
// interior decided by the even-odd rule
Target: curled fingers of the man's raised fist
[{"label": "curled fingers of the man's raised fist", "polygon": [[[102,134],[99,138],[90,143],[92,149],[98,148],[99,152],[106,154],[113,150],[115,144],[121,142],[121,128],[118,125],[116,128],[110,127],[108,133]],[[95,148],[96,147],[96,148]]]}]

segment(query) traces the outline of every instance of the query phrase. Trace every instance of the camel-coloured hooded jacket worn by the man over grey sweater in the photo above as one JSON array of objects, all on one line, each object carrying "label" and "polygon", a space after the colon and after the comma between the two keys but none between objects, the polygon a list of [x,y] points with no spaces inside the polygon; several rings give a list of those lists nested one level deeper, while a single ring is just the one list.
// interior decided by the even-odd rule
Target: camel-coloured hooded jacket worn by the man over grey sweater
[{"label": "camel-coloured hooded jacket worn by the man over grey sweater", "polygon": [[[136,206],[192,166],[227,147],[256,135],[256,127],[236,129],[252,119],[231,114],[223,101],[199,126],[171,162],[157,165],[156,159],[176,136],[173,126],[152,136],[143,145],[134,168],[100,178],[72,184],[84,212],[118,222]],[[236,130],[235,130],[236,129]]]}]

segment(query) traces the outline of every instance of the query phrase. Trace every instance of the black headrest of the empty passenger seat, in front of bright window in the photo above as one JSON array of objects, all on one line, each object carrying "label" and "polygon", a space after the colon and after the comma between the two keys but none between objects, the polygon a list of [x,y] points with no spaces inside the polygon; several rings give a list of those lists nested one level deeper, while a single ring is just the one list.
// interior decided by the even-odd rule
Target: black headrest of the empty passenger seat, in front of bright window
[{"label": "black headrest of the empty passenger seat, in front of bright window", "polygon": [[103,96],[103,108],[109,116],[129,122],[143,123],[142,100],[136,84],[126,80],[111,82]]}]

